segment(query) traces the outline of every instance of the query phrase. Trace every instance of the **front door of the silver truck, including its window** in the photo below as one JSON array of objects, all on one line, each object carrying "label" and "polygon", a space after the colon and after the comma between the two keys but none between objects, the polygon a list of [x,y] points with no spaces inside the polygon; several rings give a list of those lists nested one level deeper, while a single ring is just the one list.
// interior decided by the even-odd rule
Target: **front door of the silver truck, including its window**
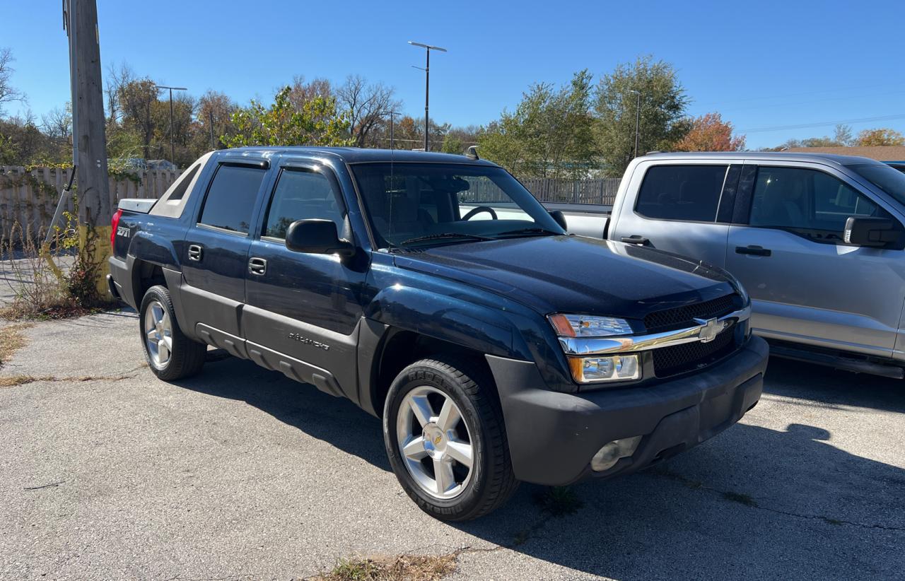
[{"label": "front door of the silver truck, including its window", "polygon": [[738,198],[727,269],[768,338],[889,357],[905,296],[903,251],[843,242],[849,216],[892,217],[834,167],[764,162]]}]

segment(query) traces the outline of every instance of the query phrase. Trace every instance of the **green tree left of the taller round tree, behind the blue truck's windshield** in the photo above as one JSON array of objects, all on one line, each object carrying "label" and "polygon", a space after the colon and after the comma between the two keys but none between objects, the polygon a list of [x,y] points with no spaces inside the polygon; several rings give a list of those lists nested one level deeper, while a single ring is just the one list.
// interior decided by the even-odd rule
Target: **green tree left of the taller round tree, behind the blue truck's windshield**
[{"label": "green tree left of the taller round tree, behind the blue truck's windshield", "polygon": [[567,85],[532,85],[512,113],[504,110],[478,136],[481,157],[519,177],[576,177],[595,158],[591,74],[578,71]]}]

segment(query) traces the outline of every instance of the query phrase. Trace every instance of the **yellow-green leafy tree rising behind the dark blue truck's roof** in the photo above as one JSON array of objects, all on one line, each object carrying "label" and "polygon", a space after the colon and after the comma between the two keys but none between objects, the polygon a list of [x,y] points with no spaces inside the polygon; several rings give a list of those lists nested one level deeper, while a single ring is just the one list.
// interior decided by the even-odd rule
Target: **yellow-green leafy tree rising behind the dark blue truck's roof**
[{"label": "yellow-green leafy tree rising behind the dark blue truck's roof", "polygon": [[349,145],[349,122],[337,112],[336,100],[312,96],[298,109],[293,106],[290,93],[288,86],[278,92],[269,108],[252,100],[251,106],[236,110],[232,131],[221,138],[224,144],[230,148]]}]

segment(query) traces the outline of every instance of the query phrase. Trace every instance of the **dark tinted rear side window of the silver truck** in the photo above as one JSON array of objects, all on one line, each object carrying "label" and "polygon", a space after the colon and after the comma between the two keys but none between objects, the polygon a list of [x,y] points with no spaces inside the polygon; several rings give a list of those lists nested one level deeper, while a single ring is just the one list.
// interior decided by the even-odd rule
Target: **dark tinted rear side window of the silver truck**
[{"label": "dark tinted rear side window of the silver truck", "polygon": [[654,166],[635,210],[648,218],[714,222],[727,166]]}]

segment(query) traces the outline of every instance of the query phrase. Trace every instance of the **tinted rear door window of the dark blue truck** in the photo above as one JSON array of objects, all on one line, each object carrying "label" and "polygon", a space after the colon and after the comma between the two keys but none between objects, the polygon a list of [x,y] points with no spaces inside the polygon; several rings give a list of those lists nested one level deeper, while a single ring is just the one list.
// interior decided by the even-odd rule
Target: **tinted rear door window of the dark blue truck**
[{"label": "tinted rear door window of the dark blue truck", "polygon": [[258,167],[218,167],[198,222],[247,234],[266,171]]}]

